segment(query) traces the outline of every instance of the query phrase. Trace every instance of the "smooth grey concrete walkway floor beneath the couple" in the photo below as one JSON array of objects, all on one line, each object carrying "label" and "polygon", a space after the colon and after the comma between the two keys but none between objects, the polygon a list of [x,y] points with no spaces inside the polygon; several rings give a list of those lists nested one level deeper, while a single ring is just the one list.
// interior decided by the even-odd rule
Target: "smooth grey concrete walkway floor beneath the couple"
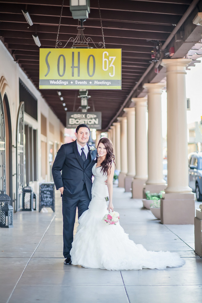
[{"label": "smooth grey concrete walkway floor beneath the couple", "polygon": [[[198,303],[202,260],[194,253],[193,225],[162,225],[142,201],[114,188],[114,206],[130,239],[147,250],[170,250],[181,268],[107,271],[63,265],[61,201],[56,212],[14,214],[14,228],[0,229],[1,303]],[[196,203],[198,208],[199,203]]]}]

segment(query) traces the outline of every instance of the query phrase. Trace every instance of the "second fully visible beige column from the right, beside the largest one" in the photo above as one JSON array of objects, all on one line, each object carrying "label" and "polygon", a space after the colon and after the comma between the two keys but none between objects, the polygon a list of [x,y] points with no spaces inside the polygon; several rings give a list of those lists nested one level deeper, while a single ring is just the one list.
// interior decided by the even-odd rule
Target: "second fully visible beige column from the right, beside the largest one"
[{"label": "second fully visible beige column from the right, beside the largest one", "polygon": [[146,83],[148,108],[148,179],[144,192],[159,193],[166,187],[163,179],[163,137],[161,94],[165,83]]}]

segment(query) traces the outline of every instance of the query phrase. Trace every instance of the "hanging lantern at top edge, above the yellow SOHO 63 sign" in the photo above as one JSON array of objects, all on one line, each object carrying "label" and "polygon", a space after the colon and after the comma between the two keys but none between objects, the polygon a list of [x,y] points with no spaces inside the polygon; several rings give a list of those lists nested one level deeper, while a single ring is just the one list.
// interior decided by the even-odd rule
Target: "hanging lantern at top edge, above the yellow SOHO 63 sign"
[{"label": "hanging lantern at top edge, above the yellow SOHO 63 sign", "polygon": [[87,19],[90,12],[89,0],[70,0],[70,10],[73,19]]}]

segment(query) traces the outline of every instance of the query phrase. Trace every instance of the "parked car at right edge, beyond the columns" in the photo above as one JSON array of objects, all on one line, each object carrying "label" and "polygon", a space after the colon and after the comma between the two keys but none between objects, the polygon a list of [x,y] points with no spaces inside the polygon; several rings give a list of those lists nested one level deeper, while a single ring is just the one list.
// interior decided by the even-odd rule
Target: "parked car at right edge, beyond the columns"
[{"label": "parked car at right edge, beyond the columns", "polygon": [[197,201],[202,201],[202,152],[189,154],[189,186],[196,193]]}]

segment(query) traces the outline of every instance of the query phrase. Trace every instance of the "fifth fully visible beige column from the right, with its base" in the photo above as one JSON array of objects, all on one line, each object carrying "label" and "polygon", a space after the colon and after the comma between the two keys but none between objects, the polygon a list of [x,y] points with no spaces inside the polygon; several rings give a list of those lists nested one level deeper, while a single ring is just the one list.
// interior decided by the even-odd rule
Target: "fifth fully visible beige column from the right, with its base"
[{"label": "fifth fully visible beige column from the right, with its base", "polygon": [[128,157],[127,157],[127,118],[118,117],[117,120],[120,122],[121,132],[121,172],[118,175],[118,186],[124,187],[124,179],[128,171]]}]

